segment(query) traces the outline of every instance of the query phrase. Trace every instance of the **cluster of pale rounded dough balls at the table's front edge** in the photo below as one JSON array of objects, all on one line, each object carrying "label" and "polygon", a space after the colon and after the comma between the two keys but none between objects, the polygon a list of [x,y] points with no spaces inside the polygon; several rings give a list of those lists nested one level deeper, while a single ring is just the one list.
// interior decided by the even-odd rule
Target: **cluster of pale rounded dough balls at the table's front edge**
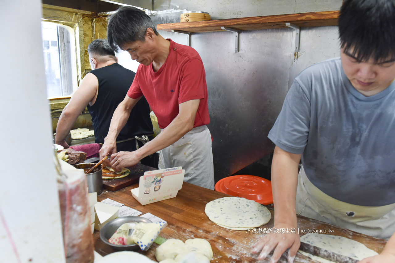
[{"label": "cluster of pale rounded dough balls at the table's front edge", "polygon": [[182,242],[179,239],[168,239],[155,250],[156,260],[160,263],[188,262],[210,263],[213,250],[209,241],[205,239],[188,239]]}]

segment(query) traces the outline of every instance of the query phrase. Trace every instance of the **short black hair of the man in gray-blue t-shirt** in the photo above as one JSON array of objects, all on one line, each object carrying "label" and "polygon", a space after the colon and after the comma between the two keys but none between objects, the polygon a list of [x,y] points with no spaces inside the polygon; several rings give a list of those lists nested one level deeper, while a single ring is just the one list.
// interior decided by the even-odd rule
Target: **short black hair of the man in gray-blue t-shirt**
[{"label": "short black hair of the man in gray-blue t-shirt", "polygon": [[[395,0],[345,0],[340,46],[359,61],[395,59]],[[350,52],[352,49],[352,52]]]}]

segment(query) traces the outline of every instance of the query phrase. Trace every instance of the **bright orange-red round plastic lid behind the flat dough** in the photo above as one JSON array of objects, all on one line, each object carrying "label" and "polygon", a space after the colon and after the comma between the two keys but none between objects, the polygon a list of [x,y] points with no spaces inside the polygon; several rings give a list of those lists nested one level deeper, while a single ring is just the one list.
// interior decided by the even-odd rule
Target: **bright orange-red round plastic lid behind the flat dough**
[{"label": "bright orange-red round plastic lid behind the flat dough", "polygon": [[254,175],[233,175],[219,180],[215,184],[217,192],[244,197],[262,205],[273,203],[271,181]]}]

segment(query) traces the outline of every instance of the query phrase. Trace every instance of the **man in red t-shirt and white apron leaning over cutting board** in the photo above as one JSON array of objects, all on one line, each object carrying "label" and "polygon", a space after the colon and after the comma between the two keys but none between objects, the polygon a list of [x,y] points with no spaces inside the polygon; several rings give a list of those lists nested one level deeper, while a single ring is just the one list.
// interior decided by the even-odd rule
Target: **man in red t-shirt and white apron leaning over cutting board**
[{"label": "man in red t-shirt and white apron leaning over cutting board", "polygon": [[[111,119],[100,158],[111,154],[111,166],[119,171],[159,151],[159,169],[182,166],[185,182],[214,190],[206,74],[199,54],[164,39],[148,15],[126,6],[110,16],[107,39],[111,47],[128,51],[140,65]],[[117,152],[115,139],[142,96],[162,132],[134,152]]]}]

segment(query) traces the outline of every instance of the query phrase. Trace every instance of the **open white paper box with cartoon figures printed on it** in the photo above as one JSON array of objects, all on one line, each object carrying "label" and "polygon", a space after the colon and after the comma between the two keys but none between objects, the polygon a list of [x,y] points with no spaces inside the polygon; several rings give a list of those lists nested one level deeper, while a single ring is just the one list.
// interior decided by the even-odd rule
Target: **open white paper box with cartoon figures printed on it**
[{"label": "open white paper box with cartoon figures printed on it", "polygon": [[173,198],[182,188],[184,174],[181,166],[148,171],[140,177],[139,187],[130,191],[141,205]]}]

